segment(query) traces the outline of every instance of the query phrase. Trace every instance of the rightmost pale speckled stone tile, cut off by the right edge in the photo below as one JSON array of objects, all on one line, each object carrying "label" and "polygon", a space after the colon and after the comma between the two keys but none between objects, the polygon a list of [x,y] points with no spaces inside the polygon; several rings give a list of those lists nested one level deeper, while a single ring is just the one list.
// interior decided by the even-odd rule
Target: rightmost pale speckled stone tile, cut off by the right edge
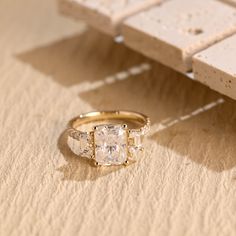
[{"label": "rightmost pale speckled stone tile, cut off by the right edge", "polygon": [[236,35],[196,54],[193,71],[196,80],[236,99]]}]

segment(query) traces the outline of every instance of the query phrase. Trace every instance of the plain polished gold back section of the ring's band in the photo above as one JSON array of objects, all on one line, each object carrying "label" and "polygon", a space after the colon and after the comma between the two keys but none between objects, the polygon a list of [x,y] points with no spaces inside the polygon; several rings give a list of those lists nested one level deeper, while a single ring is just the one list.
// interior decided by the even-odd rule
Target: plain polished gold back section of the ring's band
[{"label": "plain polished gold back section of the ring's band", "polygon": [[74,118],[69,126],[77,128],[78,126],[104,120],[124,120],[138,124],[140,128],[149,123],[149,118],[141,113],[132,111],[93,111],[82,114]]}]

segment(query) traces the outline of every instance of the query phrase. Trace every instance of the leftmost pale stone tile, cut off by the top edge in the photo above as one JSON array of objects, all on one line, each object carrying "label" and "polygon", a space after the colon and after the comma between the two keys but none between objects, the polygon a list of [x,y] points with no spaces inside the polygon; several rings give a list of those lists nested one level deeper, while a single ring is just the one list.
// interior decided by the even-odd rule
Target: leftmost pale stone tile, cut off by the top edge
[{"label": "leftmost pale stone tile, cut off by the top edge", "polygon": [[152,7],[161,0],[58,0],[61,13],[84,20],[100,31],[118,35],[127,17]]}]

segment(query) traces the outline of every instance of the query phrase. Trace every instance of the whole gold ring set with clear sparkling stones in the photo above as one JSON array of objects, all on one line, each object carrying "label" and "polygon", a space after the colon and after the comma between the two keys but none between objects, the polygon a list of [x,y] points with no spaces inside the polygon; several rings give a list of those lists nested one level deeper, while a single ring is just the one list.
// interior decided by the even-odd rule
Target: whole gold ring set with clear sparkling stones
[{"label": "whole gold ring set with clear sparkling stones", "polygon": [[[82,130],[83,126],[91,126]],[[142,139],[149,131],[147,116],[132,111],[95,111],[70,121],[68,136],[79,141],[79,155],[99,165],[127,165],[143,150]]]}]

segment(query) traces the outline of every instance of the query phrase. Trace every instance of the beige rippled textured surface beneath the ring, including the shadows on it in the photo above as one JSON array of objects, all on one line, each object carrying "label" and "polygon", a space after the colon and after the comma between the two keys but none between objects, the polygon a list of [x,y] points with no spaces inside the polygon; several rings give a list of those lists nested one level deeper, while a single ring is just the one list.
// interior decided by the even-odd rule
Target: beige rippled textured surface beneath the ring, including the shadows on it
[{"label": "beige rippled textured surface beneath the ring, including the shadows on it", "polygon": [[[236,102],[57,14],[0,2],[0,235],[235,235]],[[96,169],[63,130],[151,117],[145,156]]]}]

